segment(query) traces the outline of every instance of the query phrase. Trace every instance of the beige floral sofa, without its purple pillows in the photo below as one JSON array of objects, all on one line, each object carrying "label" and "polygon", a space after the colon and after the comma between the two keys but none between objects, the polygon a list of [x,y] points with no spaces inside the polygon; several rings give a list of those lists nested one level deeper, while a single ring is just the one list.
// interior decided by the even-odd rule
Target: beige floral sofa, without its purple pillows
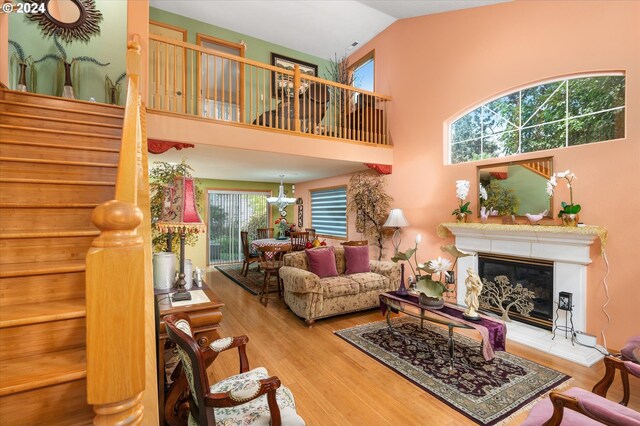
[{"label": "beige floral sofa, without its purple pillows", "polygon": [[375,308],[380,305],[380,293],[400,286],[399,265],[369,260],[371,272],[345,275],[345,249],[333,250],[337,276],[320,278],[310,272],[305,251],[286,254],[280,268],[284,301],[308,325],[319,318]]}]

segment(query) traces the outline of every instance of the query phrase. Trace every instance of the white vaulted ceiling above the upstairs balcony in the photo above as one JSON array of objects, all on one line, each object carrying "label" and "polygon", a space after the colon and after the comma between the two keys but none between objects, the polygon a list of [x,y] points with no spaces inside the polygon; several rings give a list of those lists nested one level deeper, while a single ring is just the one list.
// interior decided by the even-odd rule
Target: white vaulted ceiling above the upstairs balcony
[{"label": "white vaulted ceiling above the upstairs balcony", "polygon": [[[319,58],[342,56],[398,19],[511,0],[150,0],[178,15]],[[249,46],[251,49],[251,46]]]}]

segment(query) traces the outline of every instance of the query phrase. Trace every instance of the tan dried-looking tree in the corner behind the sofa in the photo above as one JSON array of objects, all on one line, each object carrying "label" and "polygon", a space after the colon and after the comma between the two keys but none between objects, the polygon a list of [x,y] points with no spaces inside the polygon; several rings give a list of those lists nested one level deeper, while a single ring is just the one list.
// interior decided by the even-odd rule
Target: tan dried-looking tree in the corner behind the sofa
[{"label": "tan dried-looking tree in the corner behind the sofa", "polygon": [[383,225],[392,200],[384,191],[384,184],[383,176],[362,172],[351,176],[347,187],[347,210],[355,213],[356,230],[376,242],[380,250],[378,260],[382,259],[387,239]]}]

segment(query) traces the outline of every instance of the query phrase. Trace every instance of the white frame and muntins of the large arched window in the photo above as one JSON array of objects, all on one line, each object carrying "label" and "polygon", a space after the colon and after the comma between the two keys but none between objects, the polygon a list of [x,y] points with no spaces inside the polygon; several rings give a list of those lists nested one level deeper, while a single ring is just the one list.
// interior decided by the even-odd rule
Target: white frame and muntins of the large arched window
[{"label": "white frame and muntins of the large arched window", "polygon": [[[543,151],[548,151],[549,149],[558,149],[558,148],[567,148],[567,147],[571,147],[571,146],[582,146],[582,145],[589,145],[592,143],[600,143],[600,142],[609,142],[609,141],[615,141],[615,140],[620,140],[620,139],[625,139],[627,136],[627,86],[626,86],[626,75],[627,73],[625,71],[621,71],[621,70],[610,70],[610,71],[601,71],[601,72],[590,72],[590,73],[581,73],[581,74],[570,74],[570,75],[564,75],[564,76],[559,76],[559,77],[554,77],[554,78],[549,78],[549,79],[545,79],[545,80],[540,80],[537,82],[533,82],[531,84],[527,84],[524,86],[517,86],[516,88],[511,88],[509,90],[506,90],[504,92],[498,93],[495,96],[492,96],[490,98],[486,98],[485,100],[478,102],[476,104],[474,104],[473,106],[465,109],[462,113],[456,114],[453,118],[447,120],[444,124],[445,124],[445,137],[444,137],[444,143],[446,144],[445,149],[444,149],[444,164],[445,165],[456,165],[456,164],[466,164],[466,163],[471,163],[471,162],[476,162],[476,161],[483,161],[483,160],[492,160],[492,159],[496,159],[496,158],[509,158],[509,157],[513,157],[516,155],[523,155],[523,154],[532,154],[532,153],[536,153],[536,152],[543,152]],[[487,158],[478,158],[478,159],[471,159],[471,160],[467,160],[467,161],[460,161],[460,162],[453,162],[452,161],[452,154],[453,154],[453,143],[452,143],[452,136],[453,136],[453,131],[452,131],[452,127],[453,124],[456,123],[458,120],[460,120],[461,118],[467,116],[468,114],[481,109],[482,107],[490,104],[491,102],[498,100],[500,98],[509,96],[509,95],[518,95],[518,97],[520,98],[520,102],[519,102],[519,108],[520,108],[520,114],[522,114],[522,103],[521,103],[521,99],[522,99],[522,92],[527,90],[527,89],[532,89],[535,87],[539,87],[539,86],[544,86],[547,84],[551,84],[551,83],[557,83],[560,82],[561,84],[558,86],[558,88],[556,88],[552,94],[550,94],[547,98],[550,99],[555,92],[561,88],[563,85],[568,88],[569,85],[569,81],[571,80],[580,80],[580,79],[588,79],[588,78],[593,78],[593,77],[624,77],[625,78],[625,84],[624,84],[624,105],[620,106],[620,107],[614,107],[614,108],[608,108],[608,109],[604,109],[604,110],[599,110],[597,112],[591,112],[588,114],[582,114],[582,115],[577,115],[577,116],[569,116],[568,115],[568,109],[569,109],[569,90],[567,90],[567,94],[566,94],[566,112],[565,115],[562,119],[559,120],[553,120],[553,121],[549,121],[549,122],[544,122],[544,123],[539,123],[536,125],[523,125],[522,124],[522,120],[520,120],[520,125],[518,128],[514,129],[514,130],[509,130],[509,131],[505,131],[505,132],[501,132],[501,133],[507,133],[507,132],[518,132],[519,134],[519,140],[518,140],[518,152],[515,152],[513,154],[508,154],[508,155],[504,155],[504,156],[495,156],[495,157],[487,157]],[[540,108],[542,108],[546,103],[547,100],[545,100],[543,102],[543,104],[540,105],[540,107],[538,108],[538,110]],[[587,142],[584,144],[579,144],[579,145],[570,145],[569,144],[569,133],[568,133],[568,123],[576,118],[581,118],[581,117],[586,117],[589,115],[595,115],[595,114],[601,114],[604,112],[609,112],[609,111],[615,111],[615,110],[624,110],[624,134],[622,137],[619,138],[613,138],[613,139],[605,139],[605,140],[601,140],[601,141],[593,141],[593,142]],[[537,110],[536,110],[537,112]],[[529,120],[531,120],[531,118],[535,115],[535,113],[529,117]],[[527,120],[527,122],[529,121]],[[547,124],[553,124],[556,122],[564,122],[565,123],[565,144],[563,146],[559,146],[559,147],[554,147],[554,148],[546,148],[546,149],[539,149],[539,150],[535,150],[535,151],[526,151],[526,152],[522,152],[522,132],[523,130],[527,130],[527,129],[532,129],[535,127],[541,127]],[[489,136],[492,135],[483,135],[480,134],[480,136],[478,138],[472,138],[472,139],[466,139],[463,141],[458,141],[456,143],[462,143],[462,142],[467,142],[469,140],[473,140],[473,139],[480,139],[481,143],[482,140],[484,138],[487,138]],[[480,153],[482,155],[482,151]]]}]

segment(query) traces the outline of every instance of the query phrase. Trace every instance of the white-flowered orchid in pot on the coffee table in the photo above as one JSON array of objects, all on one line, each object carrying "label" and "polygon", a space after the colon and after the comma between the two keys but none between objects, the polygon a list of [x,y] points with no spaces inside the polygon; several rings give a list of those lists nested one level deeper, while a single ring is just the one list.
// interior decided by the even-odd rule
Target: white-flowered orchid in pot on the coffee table
[{"label": "white-flowered orchid in pot on the coffee table", "polygon": [[[449,291],[446,286],[446,279],[452,272],[453,265],[449,259],[438,256],[436,259],[431,259],[425,263],[418,263],[418,244],[422,241],[422,236],[418,234],[416,236],[416,245],[414,248],[405,252],[398,252],[391,258],[394,262],[406,261],[411,268],[411,272],[416,277],[416,290],[420,293],[424,293],[429,297],[436,299],[442,299],[442,295]],[[452,254],[456,257],[468,256],[458,250],[454,245],[441,247],[442,251]],[[438,275],[438,281],[434,280],[434,275]]]}]

